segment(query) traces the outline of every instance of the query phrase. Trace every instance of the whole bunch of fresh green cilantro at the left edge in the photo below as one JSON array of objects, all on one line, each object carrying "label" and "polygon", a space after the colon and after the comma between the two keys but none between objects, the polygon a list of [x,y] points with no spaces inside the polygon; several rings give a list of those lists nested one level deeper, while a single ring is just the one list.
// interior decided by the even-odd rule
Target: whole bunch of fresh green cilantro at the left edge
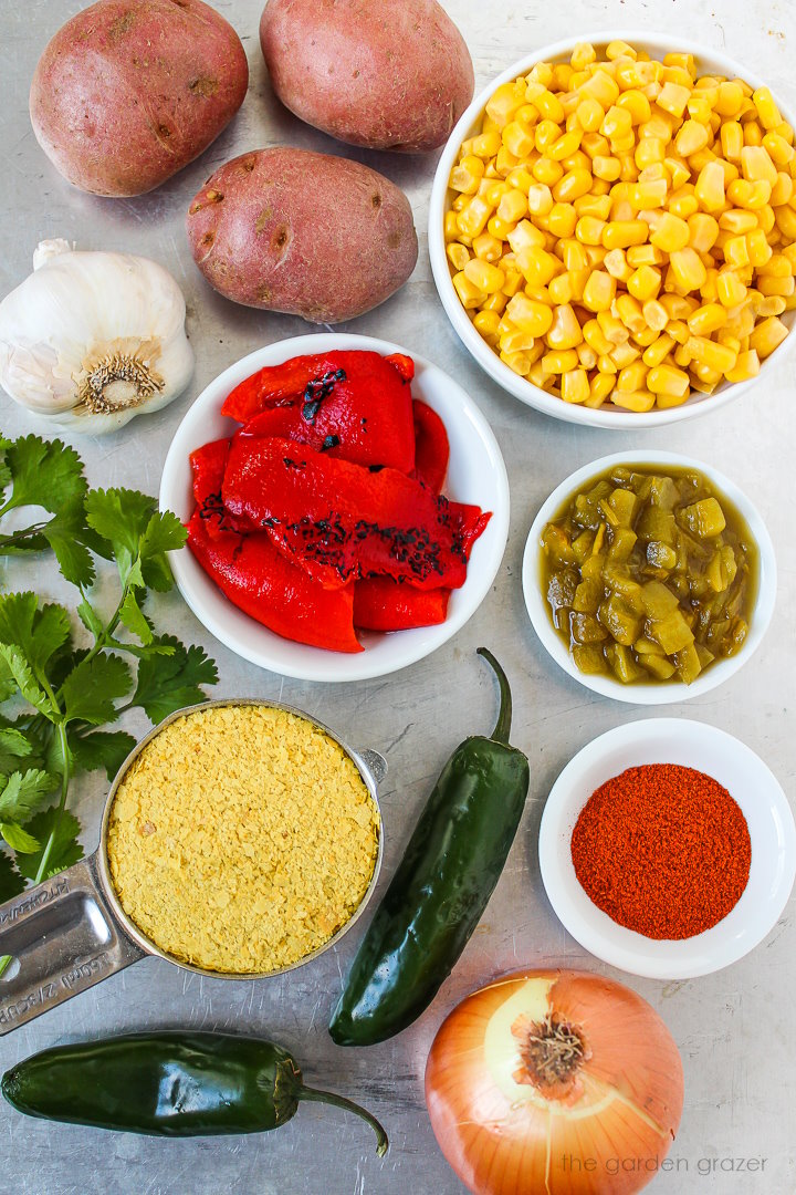
[{"label": "whole bunch of fresh green cilantro at the left edge", "polygon": [[[82,857],[80,823],[67,809],[73,778],[104,768],[109,779],[135,746],[112,725],[131,709],[158,722],[204,700],[216,667],[204,650],[156,633],[150,590],[173,578],[168,553],[185,543],[171,511],[136,490],[90,490],[78,454],[38,436],[0,439],[0,519],[43,508],[53,517],[0,534],[0,556],[50,547],[79,590],[73,618],[35,593],[0,594],[0,900]],[[115,562],[116,605],[107,613],[93,582],[95,557]],[[79,623],[87,635],[75,641]],[[86,642],[87,641],[87,642]],[[53,798],[57,795],[57,801]],[[0,958],[0,974],[7,960]]]}]

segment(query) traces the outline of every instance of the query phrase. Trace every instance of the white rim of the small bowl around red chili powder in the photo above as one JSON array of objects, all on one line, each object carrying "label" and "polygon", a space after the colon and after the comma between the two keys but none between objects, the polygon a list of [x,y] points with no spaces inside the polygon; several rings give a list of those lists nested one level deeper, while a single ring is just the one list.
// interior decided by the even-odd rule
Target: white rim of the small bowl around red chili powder
[{"label": "white rim of the small bowl around red chili powder", "polygon": [[[581,772],[585,771],[586,766],[609,755],[615,748],[627,748],[630,753],[634,747],[642,743],[654,743],[655,741],[664,740],[666,735],[680,739],[684,731],[702,736],[705,741],[710,739],[715,740],[717,746],[721,744],[724,749],[732,749],[735,753],[745,755],[749,764],[758,770],[761,780],[769,786],[770,799],[767,802],[767,813],[776,827],[776,836],[779,844],[779,870],[776,876],[776,884],[770,891],[770,908],[763,927],[759,927],[757,932],[752,932],[747,939],[741,940],[738,936],[735,939],[730,938],[729,946],[724,946],[723,949],[720,949],[718,944],[720,939],[727,942],[721,929],[723,925],[722,921],[704,933],[683,939],[683,943],[674,940],[659,943],[656,939],[646,938],[633,930],[617,925],[606,913],[598,909],[597,906],[593,906],[593,909],[594,921],[598,924],[587,925],[569,896],[569,891],[574,891],[575,888],[579,894],[585,895],[578,882],[574,866],[570,868],[570,871],[567,869],[567,875],[562,875],[556,862],[556,847],[560,844],[562,833],[566,832],[566,828],[562,827],[562,819],[572,809],[572,805],[568,805],[568,798],[573,793],[573,783],[580,780]],[[669,762],[678,762],[678,760],[669,760]],[[625,765],[625,767],[634,766],[636,765],[634,765],[631,759]],[[693,765],[684,764],[683,766]],[[584,791],[579,811],[584,808],[591,795],[591,792]],[[736,792],[733,797],[739,804],[742,804],[743,796],[739,799],[739,793]],[[755,874],[754,869],[757,868],[763,871],[766,866],[766,860],[761,859],[759,853],[755,856],[755,840],[752,827],[749,827],[749,833],[752,834],[751,882],[753,874]],[[796,826],[794,825],[794,814],[788,797],[776,776],[757,752],[752,750],[740,739],[706,722],[697,722],[689,718],[646,718],[625,723],[624,725],[616,727],[613,730],[607,730],[598,735],[573,755],[569,762],[562,768],[550,789],[542,811],[538,852],[539,871],[548,900],[567,932],[585,950],[588,950],[594,957],[601,958],[603,962],[610,963],[612,967],[617,967],[633,975],[642,975],[647,979],[658,980],[695,979],[699,975],[712,974],[723,967],[739,962],[759,945],[777,924],[788,903],[794,887],[794,878],[796,877]],[[730,911],[728,917],[732,917],[733,912]],[[605,925],[606,932],[600,931],[600,921]],[[611,938],[619,938],[622,940],[610,940],[609,933]],[[701,964],[695,966],[683,957],[678,960],[678,951],[684,949],[685,943],[698,943],[699,946],[704,948],[702,951],[703,962]],[[640,948],[647,955],[643,960],[640,958]],[[709,956],[706,964],[705,954]],[[655,957],[649,957],[650,955],[655,955]]]}]

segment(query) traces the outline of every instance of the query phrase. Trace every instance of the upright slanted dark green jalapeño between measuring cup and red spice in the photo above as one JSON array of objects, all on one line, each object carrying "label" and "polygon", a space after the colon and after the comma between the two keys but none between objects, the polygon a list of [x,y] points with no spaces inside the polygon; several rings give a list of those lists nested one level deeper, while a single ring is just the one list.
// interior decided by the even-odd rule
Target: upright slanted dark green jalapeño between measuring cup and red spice
[{"label": "upright slanted dark green jalape\u00f1o between measuring cup and red spice", "polygon": [[479,654],[500,682],[498,724],[489,739],[465,739],[437,780],[332,1015],[339,1046],[384,1041],[427,1007],[475,930],[514,840],[529,764],[508,744],[508,681],[489,651]]}]

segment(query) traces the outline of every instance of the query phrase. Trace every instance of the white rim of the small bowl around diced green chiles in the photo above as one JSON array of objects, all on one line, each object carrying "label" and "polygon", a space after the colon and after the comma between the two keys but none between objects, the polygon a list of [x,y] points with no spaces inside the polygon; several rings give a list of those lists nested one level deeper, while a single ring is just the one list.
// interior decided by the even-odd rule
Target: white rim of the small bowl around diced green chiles
[{"label": "white rim of the small bowl around diced green chiles", "polygon": [[[704,674],[697,676],[691,685],[684,685],[679,681],[659,684],[650,681],[649,684],[623,685],[622,681],[612,680],[610,676],[592,676],[579,672],[563,641],[559,637],[550,621],[548,606],[538,584],[539,537],[544,525],[582,482],[588,482],[599,473],[607,472],[615,465],[631,464],[638,466],[675,465],[679,468],[693,468],[704,473],[708,480],[721,490],[738,509],[739,514],[747,522],[758,546],[758,593],[753,614],[749,619],[749,632],[746,642],[738,655],[730,656],[727,660],[717,660]],[[523,553],[523,595],[531,625],[542,645],[559,667],[574,680],[590,688],[593,693],[613,698],[615,701],[625,701],[630,705],[671,705],[674,701],[685,701],[690,698],[699,697],[722,685],[757,651],[771,623],[777,600],[777,560],[769,529],[757,507],[720,470],[712,465],[706,465],[704,461],[695,460],[692,456],[684,456],[681,453],[629,449],[619,453],[609,453],[606,456],[599,456],[597,460],[576,468],[542,503],[525,541],[525,551]]]}]

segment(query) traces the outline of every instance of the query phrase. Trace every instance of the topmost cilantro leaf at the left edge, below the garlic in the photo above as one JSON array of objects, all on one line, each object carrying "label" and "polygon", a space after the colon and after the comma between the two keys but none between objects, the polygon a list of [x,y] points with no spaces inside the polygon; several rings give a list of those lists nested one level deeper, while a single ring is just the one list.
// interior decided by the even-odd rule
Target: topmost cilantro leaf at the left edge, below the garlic
[{"label": "topmost cilantro leaf at the left edge, below the garlic", "polygon": [[24,436],[6,447],[6,467],[13,490],[5,510],[14,507],[44,507],[57,514],[61,507],[82,498],[87,490],[82,461],[61,440]]}]

